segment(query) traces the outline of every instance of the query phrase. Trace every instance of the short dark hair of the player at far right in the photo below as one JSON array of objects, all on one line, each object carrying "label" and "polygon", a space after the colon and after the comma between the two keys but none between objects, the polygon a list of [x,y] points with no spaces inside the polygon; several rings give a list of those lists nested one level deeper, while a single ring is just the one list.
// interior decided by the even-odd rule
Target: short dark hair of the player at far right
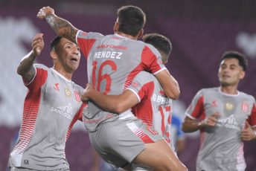
[{"label": "short dark hair of the player at far right", "polygon": [[220,62],[223,62],[224,59],[231,59],[235,58],[239,61],[239,65],[243,68],[243,71],[246,71],[248,67],[248,61],[246,57],[243,54],[240,54],[239,52],[236,51],[226,51],[223,54],[223,57],[220,59]]}]

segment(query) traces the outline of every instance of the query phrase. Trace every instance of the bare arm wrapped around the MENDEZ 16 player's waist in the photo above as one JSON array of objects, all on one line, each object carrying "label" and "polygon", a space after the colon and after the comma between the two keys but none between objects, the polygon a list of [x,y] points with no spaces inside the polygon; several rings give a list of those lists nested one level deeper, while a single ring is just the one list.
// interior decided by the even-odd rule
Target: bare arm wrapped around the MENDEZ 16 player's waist
[{"label": "bare arm wrapped around the MENDEZ 16 player's waist", "polygon": [[132,91],[126,90],[120,95],[106,95],[95,91],[91,84],[87,84],[82,94],[82,101],[85,103],[93,100],[98,106],[108,112],[122,113],[138,103],[138,98]]}]

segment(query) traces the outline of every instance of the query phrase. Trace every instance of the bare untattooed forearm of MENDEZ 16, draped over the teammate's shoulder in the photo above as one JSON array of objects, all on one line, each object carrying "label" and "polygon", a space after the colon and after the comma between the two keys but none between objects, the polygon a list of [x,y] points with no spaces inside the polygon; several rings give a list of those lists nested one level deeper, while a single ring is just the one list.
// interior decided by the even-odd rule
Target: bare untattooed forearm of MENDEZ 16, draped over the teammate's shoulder
[{"label": "bare untattooed forearm of MENDEZ 16, draped over the teammate's shoulder", "polygon": [[169,97],[170,99],[176,100],[179,98],[179,84],[177,81],[170,75],[167,69],[159,72],[155,75],[161,87],[164,90],[164,94]]}]

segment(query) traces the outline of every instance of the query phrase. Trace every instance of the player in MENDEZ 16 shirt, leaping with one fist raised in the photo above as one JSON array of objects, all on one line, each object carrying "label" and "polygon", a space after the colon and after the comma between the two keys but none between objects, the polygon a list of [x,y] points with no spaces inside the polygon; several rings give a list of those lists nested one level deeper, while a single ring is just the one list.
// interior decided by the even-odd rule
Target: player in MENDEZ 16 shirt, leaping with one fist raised
[{"label": "player in MENDEZ 16 shirt, leaping with one fist raised", "polygon": [[[87,59],[89,83],[103,94],[121,94],[140,71],[155,74],[167,97],[179,97],[176,85],[161,62],[153,45],[137,41],[143,34],[144,12],[134,6],[121,7],[115,22],[115,34],[86,33],[43,7],[37,15],[59,36],[77,42]],[[175,155],[170,146],[150,126],[134,117],[130,110],[121,114],[106,112],[89,101],[83,111],[83,122],[92,146],[113,168],[132,161],[154,170],[176,170]],[[125,136],[124,136],[125,135]],[[183,167],[185,170],[185,167]]]}]

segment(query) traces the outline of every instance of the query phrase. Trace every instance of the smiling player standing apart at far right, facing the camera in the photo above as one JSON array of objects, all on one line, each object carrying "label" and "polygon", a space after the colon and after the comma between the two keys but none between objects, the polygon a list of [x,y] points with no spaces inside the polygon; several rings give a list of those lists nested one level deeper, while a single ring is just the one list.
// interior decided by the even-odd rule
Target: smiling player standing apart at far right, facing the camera
[{"label": "smiling player standing apart at far right, facing the camera", "polygon": [[246,170],[243,141],[256,138],[255,98],[237,90],[246,68],[243,54],[225,52],[220,60],[220,87],[202,88],[185,112],[182,130],[200,130],[196,170]]}]

